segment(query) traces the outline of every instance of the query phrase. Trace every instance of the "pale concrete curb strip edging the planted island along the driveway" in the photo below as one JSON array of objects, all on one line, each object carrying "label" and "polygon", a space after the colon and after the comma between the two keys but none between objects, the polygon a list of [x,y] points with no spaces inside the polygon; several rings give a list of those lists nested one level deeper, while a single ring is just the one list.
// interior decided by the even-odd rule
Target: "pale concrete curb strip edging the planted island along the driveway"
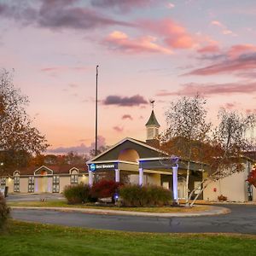
[{"label": "pale concrete curb strip edging the planted island along the driveway", "polygon": [[[196,206],[200,207],[200,206]],[[196,216],[214,216],[219,214],[229,213],[230,210],[225,207],[209,207],[209,210],[198,212],[129,212],[119,210],[108,209],[95,209],[95,208],[71,208],[71,207],[11,207],[13,209],[33,209],[33,210],[52,210],[60,212],[84,212],[90,214],[102,214],[102,215],[129,215],[129,216],[143,216],[143,217],[159,217],[159,218],[171,218],[171,217],[196,217]]]}]

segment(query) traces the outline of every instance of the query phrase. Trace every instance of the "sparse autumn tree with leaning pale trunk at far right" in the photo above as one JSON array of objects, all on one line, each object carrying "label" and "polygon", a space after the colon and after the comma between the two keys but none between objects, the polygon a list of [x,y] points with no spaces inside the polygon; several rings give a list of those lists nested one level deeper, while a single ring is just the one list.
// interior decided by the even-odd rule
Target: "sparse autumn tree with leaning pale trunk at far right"
[{"label": "sparse autumn tree with leaning pale trunk at far right", "polygon": [[219,124],[214,129],[211,143],[208,145],[208,157],[205,158],[209,166],[208,175],[201,182],[201,188],[195,188],[189,195],[191,198],[195,190],[199,189],[195,200],[212,181],[244,171],[245,152],[253,147],[253,138],[248,137],[248,131],[256,126],[255,114],[244,116],[242,113],[222,108],[218,113],[218,119]]}]

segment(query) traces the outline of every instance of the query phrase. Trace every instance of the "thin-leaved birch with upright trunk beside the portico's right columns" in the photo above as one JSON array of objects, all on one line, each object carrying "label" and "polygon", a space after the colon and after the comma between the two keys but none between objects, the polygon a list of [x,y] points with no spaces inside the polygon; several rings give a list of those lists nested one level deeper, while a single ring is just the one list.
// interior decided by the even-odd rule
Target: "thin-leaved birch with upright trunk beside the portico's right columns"
[{"label": "thin-leaved birch with upright trunk beside the portico's right columns", "polygon": [[206,101],[199,95],[183,96],[171,102],[166,111],[166,131],[160,136],[162,149],[187,161],[186,202],[189,198],[189,169],[192,160],[201,155],[201,147],[196,144],[206,143],[211,130],[207,122]]}]

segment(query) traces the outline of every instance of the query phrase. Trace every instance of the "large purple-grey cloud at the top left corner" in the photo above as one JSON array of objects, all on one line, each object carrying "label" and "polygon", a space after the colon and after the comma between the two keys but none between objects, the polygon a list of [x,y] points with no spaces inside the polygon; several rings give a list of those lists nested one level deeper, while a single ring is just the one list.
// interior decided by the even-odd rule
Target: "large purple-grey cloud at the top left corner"
[{"label": "large purple-grey cloud at the top left corner", "polygon": [[[10,1],[8,1],[10,2]],[[27,1],[29,2],[29,1]],[[44,0],[38,4],[22,1],[20,4],[5,3],[0,6],[0,16],[19,21],[23,25],[60,29],[93,29],[102,26],[132,26],[121,20],[114,20],[94,9],[83,7],[78,0]]]}]

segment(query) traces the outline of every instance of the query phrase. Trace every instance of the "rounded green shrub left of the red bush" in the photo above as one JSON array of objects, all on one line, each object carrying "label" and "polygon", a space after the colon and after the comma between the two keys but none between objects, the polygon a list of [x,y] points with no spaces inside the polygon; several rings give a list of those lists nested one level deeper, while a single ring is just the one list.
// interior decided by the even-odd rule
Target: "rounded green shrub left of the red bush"
[{"label": "rounded green shrub left of the red bush", "polygon": [[63,195],[69,204],[80,204],[90,201],[90,186],[84,183],[68,185],[64,188]]}]

